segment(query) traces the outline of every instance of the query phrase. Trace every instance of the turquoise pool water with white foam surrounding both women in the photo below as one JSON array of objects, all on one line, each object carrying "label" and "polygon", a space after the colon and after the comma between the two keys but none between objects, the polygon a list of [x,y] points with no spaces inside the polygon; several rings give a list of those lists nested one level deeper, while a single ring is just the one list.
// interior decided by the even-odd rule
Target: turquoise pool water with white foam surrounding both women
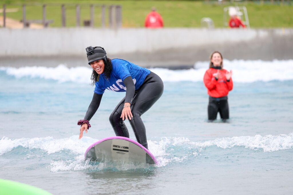
[{"label": "turquoise pool water with white foam surrounding both women", "polygon": [[[279,69],[268,71],[267,63]],[[207,122],[200,63],[192,70],[152,69],[165,84],[142,115],[156,166],[84,161],[90,144],[114,136],[108,117],[124,95],[107,91],[79,140],[77,121],[93,95],[89,68],[2,67],[0,177],[52,194],[291,194],[293,68],[282,73],[282,63],[260,62],[254,70],[265,74],[256,80],[243,67],[231,68],[229,123]]]}]

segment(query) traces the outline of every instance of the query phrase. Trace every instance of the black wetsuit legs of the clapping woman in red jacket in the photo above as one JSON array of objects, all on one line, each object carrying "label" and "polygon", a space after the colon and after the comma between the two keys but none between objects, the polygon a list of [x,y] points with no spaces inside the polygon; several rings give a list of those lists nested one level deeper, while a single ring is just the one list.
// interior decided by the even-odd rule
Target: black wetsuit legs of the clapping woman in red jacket
[{"label": "black wetsuit legs of the clapping woman in red jacket", "polygon": [[214,98],[209,96],[209,105],[207,106],[207,113],[209,121],[217,119],[217,114],[220,113],[222,120],[229,119],[229,105],[228,96]]}]

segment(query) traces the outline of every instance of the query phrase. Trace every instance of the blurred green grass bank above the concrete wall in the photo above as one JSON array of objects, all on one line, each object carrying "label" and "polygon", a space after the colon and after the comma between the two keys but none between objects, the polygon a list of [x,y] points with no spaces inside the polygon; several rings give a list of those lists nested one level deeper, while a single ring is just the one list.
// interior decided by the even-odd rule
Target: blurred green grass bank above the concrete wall
[{"label": "blurred green grass bank above the concrete wall", "polygon": [[[274,28],[293,27],[293,1],[248,1],[238,3],[238,6],[246,6],[251,28]],[[61,26],[61,6],[66,4],[66,26],[74,27],[76,23],[75,4],[81,6],[81,21],[90,19],[90,8],[86,4],[119,4],[122,6],[122,27],[144,27],[144,19],[156,7],[162,15],[165,27],[200,27],[200,20],[209,17],[214,21],[216,28],[223,25],[223,8],[234,4],[224,2],[217,4],[217,1],[140,1],[140,0],[120,0],[120,1],[91,1],[91,0],[46,0],[46,1],[1,1],[0,8],[6,4],[6,9],[18,8],[17,11],[6,13],[7,18],[15,20],[22,19],[21,4],[27,4],[26,19],[42,19],[42,5],[47,4],[47,19],[54,20],[50,27]],[[32,5],[34,4],[34,5]],[[0,15],[3,15],[0,13]],[[108,10],[106,10],[106,23],[108,20]],[[94,26],[101,26],[101,9],[95,8]],[[81,22],[82,23],[82,22]],[[82,25],[82,24],[81,24]]]}]

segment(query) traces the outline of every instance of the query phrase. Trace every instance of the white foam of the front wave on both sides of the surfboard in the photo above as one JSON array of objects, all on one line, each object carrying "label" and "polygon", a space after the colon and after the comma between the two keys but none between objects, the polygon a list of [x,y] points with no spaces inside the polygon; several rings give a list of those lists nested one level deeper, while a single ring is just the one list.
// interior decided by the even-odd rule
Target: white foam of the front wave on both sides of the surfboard
[{"label": "white foam of the front wave on both sides of the surfboard", "polygon": [[[89,165],[84,161],[84,151],[92,143],[98,140],[90,137],[83,137],[79,140],[78,136],[69,138],[54,139],[45,138],[21,138],[0,139],[0,155],[11,151],[13,148],[23,146],[29,149],[40,149],[48,154],[69,150],[76,155],[74,160],[52,161],[50,170],[56,171],[76,171],[85,169],[103,170],[109,168],[109,165],[100,163],[98,165]],[[240,137],[225,137],[204,142],[192,142],[185,137],[165,137],[161,141],[148,141],[149,150],[158,160],[158,167],[166,166],[170,163],[183,162],[190,156],[197,156],[204,152],[209,146],[217,146],[222,149],[240,146],[252,150],[263,150],[264,152],[275,152],[279,150],[293,149],[293,132],[279,135],[255,135]],[[145,165],[118,164],[113,165],[118,170],[130,170],[134,168],[146,168]]]}]

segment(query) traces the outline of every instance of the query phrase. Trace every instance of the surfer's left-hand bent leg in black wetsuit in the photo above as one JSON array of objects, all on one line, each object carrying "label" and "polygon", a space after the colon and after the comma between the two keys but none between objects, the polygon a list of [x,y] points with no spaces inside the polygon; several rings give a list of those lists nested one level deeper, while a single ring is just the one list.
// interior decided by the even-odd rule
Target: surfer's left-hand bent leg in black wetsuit
[{"label": "surfer's left-hand bent leg in black wetsuit", "polygon": [[117,104],[114,111],[111,113],[109,120],[115,131],[116,136],[128,137],[129,133],[125,123],[122,118],[120,118],[123,106],[124,106],[125,97]]}]

